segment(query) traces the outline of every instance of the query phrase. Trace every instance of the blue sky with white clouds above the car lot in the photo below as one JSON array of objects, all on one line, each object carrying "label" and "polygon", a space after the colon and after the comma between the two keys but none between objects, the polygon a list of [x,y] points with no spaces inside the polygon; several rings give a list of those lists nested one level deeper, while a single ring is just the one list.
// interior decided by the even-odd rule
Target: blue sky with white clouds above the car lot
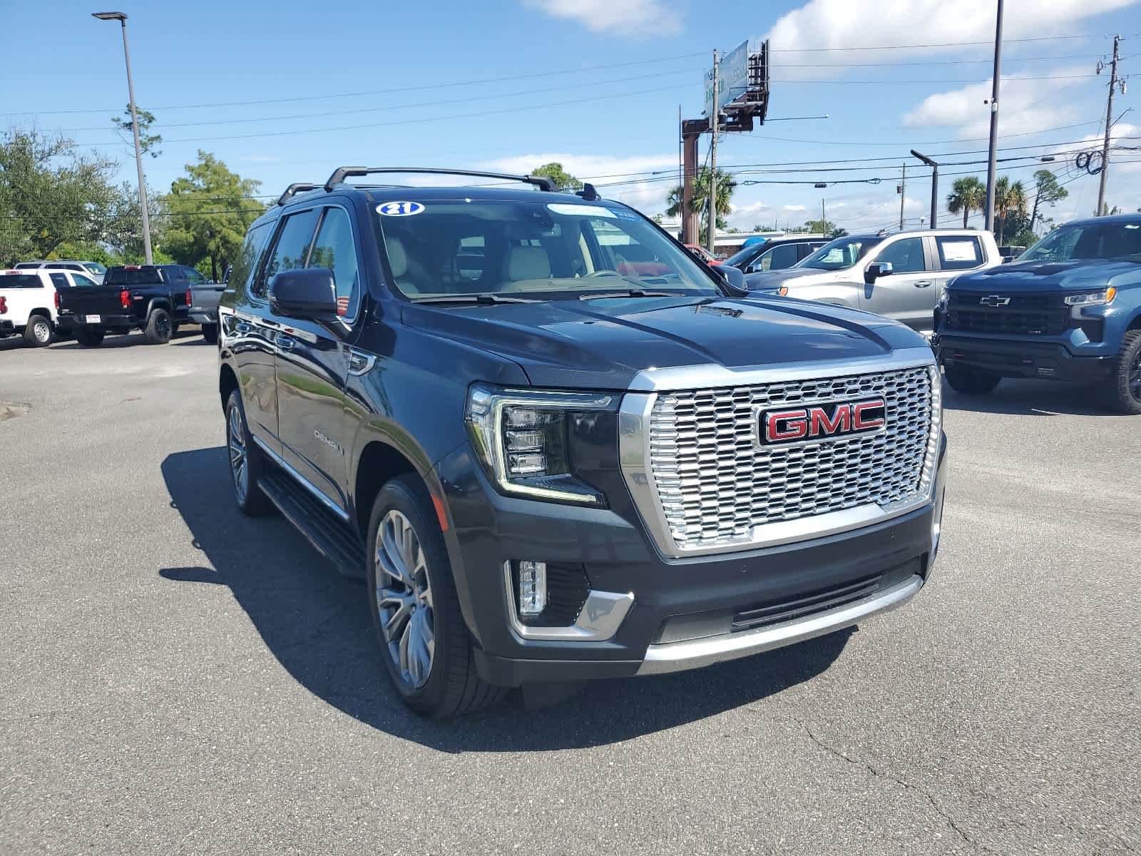
[{"label": "blue sky with white clouds above the car lot", "polygon": [[[130,148],[110,124],[127,100],[119,26],[90,17],[102,8],[54,0],[6,11],[9,42],[38,43],[50,33],[51,50],[50,62],[8,65],[0,121],[60,130],[118,158],[129,180]],[[904,161],[905,217],[917,225],[930,173],[908,150],[985,156],[955,153],[986,148],[990,48],[948,43],[993,39],[993,0],[722,0],[712,19],[691,0],[124,0],[108,8],[130,16],[136,97],[165,139],[161,156],[145,164],[160,189],[199,148],[261,180],[265,194],[346,163],[523,171],[561,160],[598,185],[623,183],[604,195],[653,215],[677,171],[678,108],[701,115],[712,49],[766,37],[776,49],[769,116],[830,119],[771,121],[721,138],[721,165],[807,170],[741,180],[809,183],[742,186],[733,225],[802,223],[818,215],[822,199],[828,218],[848,228],[898,223]],[[1136,0],[1006,0],[1003,155],[1093,145],[1106,83],[1094,68],[1115,32],[1131,37],[1123,72],[1141,72]],[[1134,83],[1115,118],[1136,104],[1141,79]],[[1115,134],[1141,135],[1141,115],[1127,114]],[[1141,138],[1122,143],[1141,146]],[[872,158],[889,160],[857,162]],[[828,163],[744,167],[793,161]],[[1123,154],[1111,172],[1108,200],[1127,210],[1141,204],[1136,161]],[[1071,154],[1053,164],[1074,179],[1070,199],[1053,212],[1059,219],[1089,213],[1097,196],[1098,179],[1071,164]],[[826,171],[843,165],[863,169]],[[1013,178],[1037,167],[1008,164]],[[949,173],[972,170],[982,175],[985,165],[945,167],[940,195]],[[880,183],[811,184],[863,178]]]}]

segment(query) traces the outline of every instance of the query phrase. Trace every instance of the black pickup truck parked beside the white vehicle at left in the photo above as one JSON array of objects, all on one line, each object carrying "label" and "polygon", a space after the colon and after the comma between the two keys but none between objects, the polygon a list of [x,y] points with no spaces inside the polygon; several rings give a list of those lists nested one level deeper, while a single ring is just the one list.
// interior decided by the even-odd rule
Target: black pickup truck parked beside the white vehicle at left
[{"label": "black pickup truck parked beside the white vehicle at left", "polygon": [[102,345],[107,333],[131,330],[141,330],[151,345],[163,345],[191,320],[191,273],[197,274],[181,265],[116,265],[103,283],[64,294],[59,328],[84,347]]}]

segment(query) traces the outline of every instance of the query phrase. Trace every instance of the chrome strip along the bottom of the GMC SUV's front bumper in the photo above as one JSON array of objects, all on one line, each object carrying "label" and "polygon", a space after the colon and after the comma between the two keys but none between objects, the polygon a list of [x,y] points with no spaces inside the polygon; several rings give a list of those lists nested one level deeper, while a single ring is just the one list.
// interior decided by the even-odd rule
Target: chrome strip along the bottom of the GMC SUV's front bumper
[{"label": "chrome strip along the bottom of the GMC SUV's front bumper", "polygon": [[762,651],[771,651],[804,639],[824,636],[851,627],[869,615],[893,609],[914,597],[921,588],[923,588],[923,578],[915,574],[909,580],[904,580],[864,600],[828,609],[807,619],[742,633],[722,633],[705,639],[650,645],[646,649],[646,657],[638,669],[638,675],[663,675],[685,669],[699,669],[704,665],[760,654]]}]

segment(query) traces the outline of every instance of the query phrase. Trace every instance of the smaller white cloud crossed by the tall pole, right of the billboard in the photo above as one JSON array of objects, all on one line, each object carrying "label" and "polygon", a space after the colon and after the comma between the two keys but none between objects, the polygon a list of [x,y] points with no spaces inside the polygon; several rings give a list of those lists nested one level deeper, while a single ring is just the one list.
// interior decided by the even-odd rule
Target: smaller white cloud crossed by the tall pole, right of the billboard
[{"label": "smaller white cloud crossed by the tall pole, right of the billboard", "polygon": [[[1089,68],[1082,67],[1054,68],[1035,75],[1038,78],[1035,80],[1004,74],[998,94],[1001,132],[1055,128],[1075,119],[1089,118],[1081,113],[1081,104],[1076,99],[1059,97],[1063,90],[1075,88],[1075,83],[1086,82],[1073,75],[1089,73]],[[961,138],[986,137],[990,128],[990,108],[984,100],[990,97],[990,81],[987,80],[929,95],[917,107],[904,114],[903,123],[911,128],[958,126]]]}]

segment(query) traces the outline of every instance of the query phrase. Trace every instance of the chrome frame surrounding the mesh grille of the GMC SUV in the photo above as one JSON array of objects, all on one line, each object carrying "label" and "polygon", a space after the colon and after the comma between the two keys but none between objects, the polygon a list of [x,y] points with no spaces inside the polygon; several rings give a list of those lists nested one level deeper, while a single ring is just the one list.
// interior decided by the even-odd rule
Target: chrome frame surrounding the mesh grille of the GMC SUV
[{"label": "chrome frame surrounding the mesh grille of the GMC SUV", "polygon": [[[753,527],[748,541],[702,547],[679,547],[670,533],[657,485],[650,467],[649,425],[654,404],[661,391],[709,389],[774,383],[790,380],[839,378],[850,374],[893,372],[926,366],[931,380],[931,426],[920,476],[920,491],[903,502],[888,506],[865,503],[837,511],[799,517],[793,520]],[[929,347],[904,348],[880,357],[832,361],[824,363],[790,363],[772,366],[727,369],[721,365],[650,369],[640,372],[618,407],[618,462],[622,477],[634,507],[655,546],[666,558],[713,556],[742,552],[766,547],[825,538],[872,526],[923,508],[931,502],[936,485],[936,465],[942,434],[942,378]],[[842,441],[840,441],[842,442]]]}]

